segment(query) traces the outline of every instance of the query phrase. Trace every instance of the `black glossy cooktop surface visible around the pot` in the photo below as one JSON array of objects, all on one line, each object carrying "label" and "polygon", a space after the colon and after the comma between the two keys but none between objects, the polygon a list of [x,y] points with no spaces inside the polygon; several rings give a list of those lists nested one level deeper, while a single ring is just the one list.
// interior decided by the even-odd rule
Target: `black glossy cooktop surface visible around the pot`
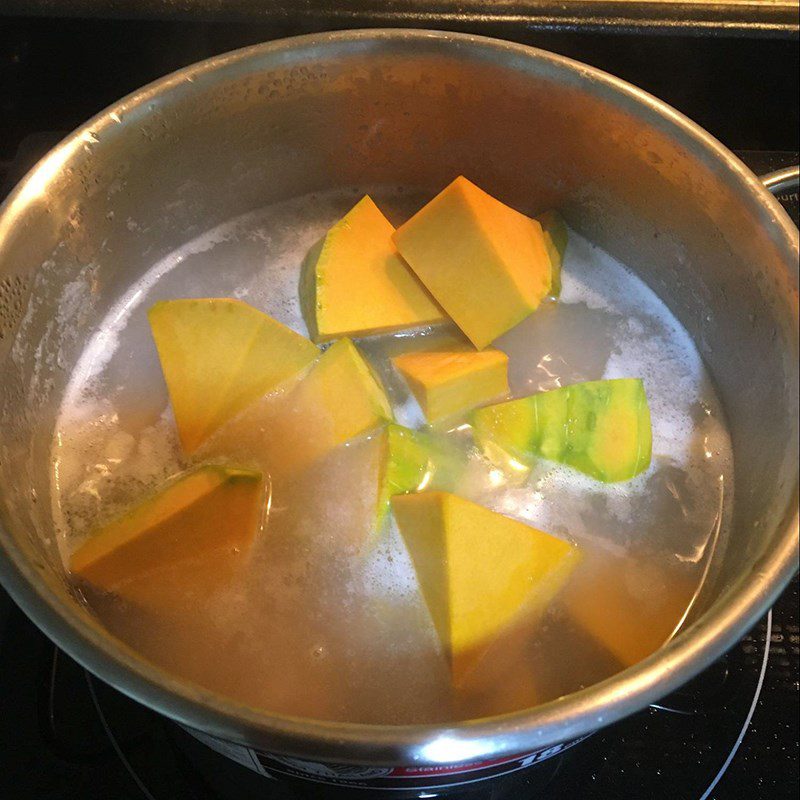
[{"label": "black glossy cooktop surface visible around the pot", "polygon": [[[189,24],[180,36],[175,27],[108,23],[111,33],[99,39],[98,24],[14,20],[4,28],[0,17],[0,87],[5,87],[0,91],[0,191],[60,138],[54,131],[69,130],[139,84],[247,43],[248,37],[300,32],[286,23],[247,34],[230,26]],[[476,26],[476,32],[497,33]],[[121,30],[129,35],[120,36]],[[796,41],[732,39],[694,47],[679,40],[654,44],[641,37],[604,39],[564,31],[548,39],[546,32],[524,26],[508,30],[509,38],[549,46],[647,85],[739,148],[758,173],[797,162]],[[76,48],[81,36],[86,46]],[[659,55],[671,61],[654,64]],[[61,82],[54,84],[56,74]],[[748,102],[733,104],[731,92]],[[797,221],[797,194],[782,202]],[[795,577],[769,615],[687,687],[533,769],[447,796],[794,798],[799,648]],[[208,750],[91,678],[0,589],[0,799],[343,796],[369,793],[332,794],[315,785],[268,781]]]}]

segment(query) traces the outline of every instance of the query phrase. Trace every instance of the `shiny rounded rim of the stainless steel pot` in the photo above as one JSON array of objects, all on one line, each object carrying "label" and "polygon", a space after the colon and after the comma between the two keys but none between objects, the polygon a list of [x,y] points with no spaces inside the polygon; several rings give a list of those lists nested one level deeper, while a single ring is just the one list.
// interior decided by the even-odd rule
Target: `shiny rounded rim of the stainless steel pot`
[{"label": "shiny rounded rim of the stainless steel pot", "polygon": [[[785,263],[797,261],[797,229],[780,204],[736,156],[697,124],[662,101],[601,70],[544,50],[470,34],[411,29],[355,30],[280,39],[215,56],[139,89],[100,112],[46,155],[0,206],[0,253],[12,223],[32,200],[31,185],[46,186],[54,166],[68,163],[97,131],[113,133],[116,115],[130,115],[158,97],[212,75],[285,66],[315,55],[352,55],[386,46],[417,45],[431,53],[474,58],[536,71],[539,76],[592,90],[679,139],[687,151],[722,173],[755,216],[771,226]],[[785,278],[784,278],[785,280]],[[796,285],[791,298],[798,325]],[[797,341],[794,342],[795,351]],[[527,753],[582,737],[621,719],[694,677],[752,627],[789,582],[798,561],[798,483],[772,546],[693,625],[665,647],[617,675],[541,706],[501,716],[426,725],[372,725],[313,720],[256,711],[178,680],[64,605],[20,544],[0,524],[0,578],[27,615],[72,658],[117,689],[188,727],[233,742],[309,759],[360,764],[456,764]],[[257,744],[256,744],[257,743]]]}]

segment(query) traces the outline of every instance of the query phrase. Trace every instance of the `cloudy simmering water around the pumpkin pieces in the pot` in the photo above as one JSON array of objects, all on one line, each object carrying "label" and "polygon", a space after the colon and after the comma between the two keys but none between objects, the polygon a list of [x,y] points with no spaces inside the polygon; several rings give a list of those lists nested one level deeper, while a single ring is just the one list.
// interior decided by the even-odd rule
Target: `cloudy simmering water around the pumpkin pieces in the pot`
[{"label": "cloudy simmering water around the pumpkin pieces in the pot", "polygon": [[[53,513],[65,559],[98,520],[188,465],[147,309],[167,298],[237,297],[305,333],[300,262],[359,195],[308,196],[233,220],[153,265],[119,299],[82,354],[54,437]],[[420,204],[401,191],[373,196],[395,222]],[[388,358],[458,335],[438,328],[359,342],[399,422],[420,426],[423,418]],[[230,564],[215,557],[191,571],[166,569],[157,608],[88,588],[87,601],[111,631],[186,679],[268,711],[358,722],[519,709],[646,654],[681,625],[724,544],[732,503],[730,440],[700,357],[641,281],[577,235],[560,302],[497,346],[509,355],[515,396],[583,380],[644,378],[654,457],[646,474],[617,485],[549,463],[509,477],[475,449],[465,419],[448,422],[442,432],[468,465],[459,494],[585,554],[545,619],[507,632],[463,690],[450,687],[394,524],[364,545],[377,492],[377,439],[352,442],[289,479],[279,447],[253,444],[284,410],[281,395],[245,411],[204,451],[271,475],[269,518],[250,553],[231,553]],[[579,624],[586,608],[599,614]]]}]

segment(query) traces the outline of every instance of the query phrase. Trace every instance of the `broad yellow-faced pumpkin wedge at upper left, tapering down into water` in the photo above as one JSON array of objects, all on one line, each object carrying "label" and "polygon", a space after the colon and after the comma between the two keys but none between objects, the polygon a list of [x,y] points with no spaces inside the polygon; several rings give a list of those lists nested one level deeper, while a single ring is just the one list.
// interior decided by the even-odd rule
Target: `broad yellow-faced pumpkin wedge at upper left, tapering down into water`
[{"label": "broad yellow-faced pumpkin wedge at upper left, tapering down into water", "polygon": [[304,336],[240,300],[166,300],[148,318],[187,454],[319,356]]}]

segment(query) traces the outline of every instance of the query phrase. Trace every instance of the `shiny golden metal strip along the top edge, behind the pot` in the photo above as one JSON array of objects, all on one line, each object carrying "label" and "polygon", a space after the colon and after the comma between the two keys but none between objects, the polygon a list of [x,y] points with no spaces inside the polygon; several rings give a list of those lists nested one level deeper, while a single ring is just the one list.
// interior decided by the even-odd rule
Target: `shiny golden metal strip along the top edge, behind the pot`
[{"label": "shiny golden metal strip along the top edge, behind the pot", "polygon": [[258,23],[302,15],[336,25],[464,25],[791,36],[797,0],[5,0],[6,13]]}]

